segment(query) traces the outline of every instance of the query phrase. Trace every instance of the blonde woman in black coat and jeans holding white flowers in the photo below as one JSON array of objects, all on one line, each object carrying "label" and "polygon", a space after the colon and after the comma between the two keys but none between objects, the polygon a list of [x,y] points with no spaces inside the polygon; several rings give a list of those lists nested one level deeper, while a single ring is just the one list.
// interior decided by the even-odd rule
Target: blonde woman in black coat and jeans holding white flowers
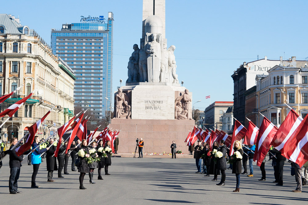
[{"label": "blonde woman in black coat and jeans holding white flowers", "polygon": [[[233,150],[234,150],[234,153],[237,151],[240,152],[241,156],[243,157],[243,149],[242,149],[242,144],[240,141],[238,140],[234,141]],[[242,157],[235,158],[235,159],[231,157],[231,159],[233,159],[232,174],[235,174],[236,176],[236,188],[233,192],[240,192],[240,175],[242,172],[242,161],[241,161]]]}]

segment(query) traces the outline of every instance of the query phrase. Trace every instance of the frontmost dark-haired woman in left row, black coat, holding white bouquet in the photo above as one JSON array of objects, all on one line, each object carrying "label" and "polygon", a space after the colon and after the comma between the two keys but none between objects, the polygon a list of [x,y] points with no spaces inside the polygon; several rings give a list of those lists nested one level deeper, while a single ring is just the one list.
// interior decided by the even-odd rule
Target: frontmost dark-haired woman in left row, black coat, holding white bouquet
[{"label": "frontmost dark-haired woman in left row, black coat, holding white bouquet", "polygon": [[86,173],[89,173],[89,165],[87,164],[85,158],[89,157],[90,155],[89,153],[89,148],[87,147],[87,140],[82,140],[81,142],[81,147],[79,149],[79,151],[81,149],[83,149],[84,152],[86,152],[87,154],[85,154],[83,157],[78,155],[78,159],[80,160],[79,166],[78,166],[78,172],[80,172],[80,176],[79,176],[79,189],[87,189],[85,187],[83,187],[83,178],[86,175]]}]

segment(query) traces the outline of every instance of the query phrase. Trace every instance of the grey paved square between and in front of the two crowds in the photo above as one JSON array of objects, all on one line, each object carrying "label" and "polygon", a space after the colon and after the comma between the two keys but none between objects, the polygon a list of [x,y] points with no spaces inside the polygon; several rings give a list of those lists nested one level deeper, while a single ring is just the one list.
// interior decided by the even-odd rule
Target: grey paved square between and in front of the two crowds
[{"label": "grey paved square between and in front of the two crowds", "polygon": [[[216,186],[218,181],[211,177],[195,174],[195,160],[188,158],[125,158],[113,157],[109,167],[111,175],[103,175],[104,180],[89,184],[89,176],[84,179],[87,190],[79,190],[79,173],[70,171],[59,179],[54,174],[55,182],[47,182],[46,160],[41,164],[36,182],[41,187],[30,188],[33,168],[22,163],[18,180],[18,190],[22,194],[10,195],[8,179],[10,169],[8,157],[4,160],[0,175],[0,199],[7,204],[306,204],[308,186],[303,186],[303,193],[293,193],[296,188],[295,177],[290,175],[290,163],[284,166],[284,186],[277,187],[274,181],[271,161],[266,161],[266,181],[261,182],[260,168],[254,165],[254,176],[241,175],[240,192],[235,189],[235,174],[226,171],[226,186]],[[104,171],[102,170],[102,173]]]}]

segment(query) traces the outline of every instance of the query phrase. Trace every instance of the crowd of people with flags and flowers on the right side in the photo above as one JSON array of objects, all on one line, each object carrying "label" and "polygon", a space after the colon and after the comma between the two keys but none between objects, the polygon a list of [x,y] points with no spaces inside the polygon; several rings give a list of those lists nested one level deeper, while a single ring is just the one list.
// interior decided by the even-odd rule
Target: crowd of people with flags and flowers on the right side
[{"label": "crowd of people with flags and flowers on the right side", "polygon": [[[236,176],[236,187],[233,192],[240,191],[240,175],[247,175],[248,177],[253,177],[253,157],[255,145],[245,146],[240,141],[236,140],[233,148],[227,147],[224,140],[219,142],[213,142],[213,147],[211,148],[209,144],[205,142],[201,144],[201,141],[197,141],[198,144],[194,147],[194,158],[196,160],[197,174],[205,174],[204,176],[214,175],[213,181],[217,180],[218,175],[221,175],[220,183],[218,186],[225,186],[226,170],[232,169],[232,174]],[[191,149],[191,148],[189,148]],[[229,155],[229,149],[233,149],[232,156]],[[189,150],[190,151],[190,150]],[[283,166],[285,164],[286,158],[281,155],[281,152],[271,147],[269,152],[270,158],[272,160],[272,166],[274,169],[276,186],[283,186]],[[203,160],[203,163],[202,163]],[[249,160],[249,174],[247,172],[247,160]],[[258,179],[259,181],[266,181],[266,171],[265,162],[266,155],[261,163],[260,170],[262,177]],[[290,160],[288,162],[291,162]],[[203,165],[201,167],[201,164]],[[227,164],[229,167],[227,168]],[[244,171],[242,172],[242,166]],[[295,181],[297,187],[293,192],[302,192],[302,185],[307,185],[308,181],[308,161],[299,167],[298,164],[291,162],[291,175],[295,175]],[[201,169],[202,168],[202,169]]]}]

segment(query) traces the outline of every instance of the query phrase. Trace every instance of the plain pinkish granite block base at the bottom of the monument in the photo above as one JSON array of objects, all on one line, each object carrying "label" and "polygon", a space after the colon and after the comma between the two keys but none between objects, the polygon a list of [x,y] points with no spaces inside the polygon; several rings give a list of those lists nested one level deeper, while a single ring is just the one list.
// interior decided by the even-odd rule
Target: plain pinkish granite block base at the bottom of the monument
[{"label": "plain pinkish granite block base at the bottom of the monument", "polygon": [[[119,129],[119,153],[132,153],[136,149],[136,139],[144,141],[143,152],[170,153],[174,140],[176,150],[188,154],[187,142],[184,142],[188,130],[192,131],[195,120],[134,120],[111,119],[110,129]],[[138,152],[138,149],[137,149]]]}]

